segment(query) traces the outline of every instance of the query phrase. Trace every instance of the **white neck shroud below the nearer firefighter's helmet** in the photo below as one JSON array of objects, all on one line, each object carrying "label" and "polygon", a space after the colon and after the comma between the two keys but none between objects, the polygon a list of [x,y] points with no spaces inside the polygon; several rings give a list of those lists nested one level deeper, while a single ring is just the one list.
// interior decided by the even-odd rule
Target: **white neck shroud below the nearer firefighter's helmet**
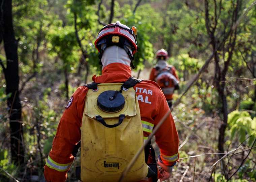
[{"label": "white neck shroud below the nearer firefighter's helmet", "polygon": [[[127,47],[129,48],[130,52],[132,52],[131,47],[129,46]],[[102,69],[103,69],[105,66],[111,63],[122,63],[130,66],[131,60],[123,48],[117,45],[113,45],[105,48],[102,54],[101,62],[102,62]]]}]

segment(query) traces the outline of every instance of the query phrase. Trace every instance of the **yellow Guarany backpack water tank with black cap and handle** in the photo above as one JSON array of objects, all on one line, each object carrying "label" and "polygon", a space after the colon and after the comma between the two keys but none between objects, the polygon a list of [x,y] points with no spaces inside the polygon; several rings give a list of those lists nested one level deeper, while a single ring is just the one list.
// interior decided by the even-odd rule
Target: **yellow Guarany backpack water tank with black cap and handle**
[{"label": "yellow Guarany backpack water tank with black cap and handle", "polygon": [[[124,83],[85,85],[89,90],[82,119],[81,168],[76,169],[76,177],[83,182],[117,182],[143,145],[140,110],[133,89],[140,81],[131,77]],[[141,152],[123,181],[152,176],[157,179],[145,162],[145,153]]]}]

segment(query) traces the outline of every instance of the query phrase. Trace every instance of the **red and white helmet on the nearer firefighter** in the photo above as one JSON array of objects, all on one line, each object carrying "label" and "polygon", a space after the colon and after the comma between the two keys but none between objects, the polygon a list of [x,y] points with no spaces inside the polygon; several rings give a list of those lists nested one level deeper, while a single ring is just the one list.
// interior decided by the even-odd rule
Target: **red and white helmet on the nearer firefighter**
[{"label": "red and white helmet on the nearer firefighter", "polygon": [[[130,29],[126,25],[121,24],[119,21],[116,23],[108,24],[104,26],[99,31],[97,39],[94,42],[95,47],[99,51],[100,64],[102,64],[101,57],[104,49],[112,45],[117,45],[121,48],[124,48],[130,60],[133,61],[134,58],[132,55],[138,49],[136,38],[137,38],[137,28],[134,26],[132,27],[132,29]],[[101,46],[101,44],[104,44],[104,45]],[[127,46],[131,47],[132,52],[130,52]],[[134,67],[132,62],[131,62],[131,66]]]}]

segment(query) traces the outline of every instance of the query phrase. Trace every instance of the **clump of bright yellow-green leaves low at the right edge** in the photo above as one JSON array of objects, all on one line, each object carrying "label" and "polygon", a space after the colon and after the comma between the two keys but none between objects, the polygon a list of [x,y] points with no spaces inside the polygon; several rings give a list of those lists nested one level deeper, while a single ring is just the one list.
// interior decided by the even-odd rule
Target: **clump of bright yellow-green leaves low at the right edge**
[{"label": "clump of bright yellow-green leaves low at the right edge", "polygon": [[[251,147],[252,142],[256,138],[256,119],[252,119],[250,114],[246,111],[233,111],[228,114],[228,127],[231,133],[231,139],[238,136],[239,142],[243,143],[246,136],[250,137],[246,142]],[[256,145],[255,145],[256,146]]]}]

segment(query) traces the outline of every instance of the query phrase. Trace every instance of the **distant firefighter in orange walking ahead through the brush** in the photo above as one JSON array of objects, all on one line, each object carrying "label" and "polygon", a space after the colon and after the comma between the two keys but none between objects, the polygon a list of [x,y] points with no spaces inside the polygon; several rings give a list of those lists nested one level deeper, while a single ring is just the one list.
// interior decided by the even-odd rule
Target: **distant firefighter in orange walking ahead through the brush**
[{"label": "distant firefighter in orange walking ahead through the brush", "polygon": [[169,107],[172,106],[173,92],[179,89],[179,77],[174,66],[167,64],[168,53],[164,49],[156,52],[157,64],[151,69],[149,80],[155,81],[161,87]]}]

